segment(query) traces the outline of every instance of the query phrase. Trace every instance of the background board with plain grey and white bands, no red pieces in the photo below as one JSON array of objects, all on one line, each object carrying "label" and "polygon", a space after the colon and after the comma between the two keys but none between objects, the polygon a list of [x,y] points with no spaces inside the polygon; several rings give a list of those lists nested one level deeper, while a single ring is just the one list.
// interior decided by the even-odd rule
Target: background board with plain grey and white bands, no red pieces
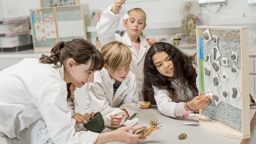
[{"label": "background board with plain grey and white bands, no red pieces", "polygon": [[74,38],[87,39],[81,5],[56,6],[54,9],[59,41],[70,41]]}]

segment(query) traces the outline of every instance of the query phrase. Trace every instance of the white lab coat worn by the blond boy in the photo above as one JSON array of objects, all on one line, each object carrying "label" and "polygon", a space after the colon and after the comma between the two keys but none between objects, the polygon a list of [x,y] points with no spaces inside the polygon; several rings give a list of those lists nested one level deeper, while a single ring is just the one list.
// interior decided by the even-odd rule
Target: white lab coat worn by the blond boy
[{"label": "white lab coat worn by the blond boy", "polygon": [[[129,116],[138,113],[138,92],[136,90],[136,78],[132,72],[129,72],[125,80],[117,89],[114,95],[113,84],[115,80],[112,79],[108,70],[102,68],[100,71],[94,73],[94,82],[86,85],[87,90],[87,110],[86,112],[100,111],[104,117],[105,125],[111,126],[110,115],[119,116],[125,114],[121,108],[127,110]],[[90,108],[89,108],[90,107]],[[125,115],[126,116],[126,115]],[[124,122],[125,116],[122,117],[121,123]]]}]

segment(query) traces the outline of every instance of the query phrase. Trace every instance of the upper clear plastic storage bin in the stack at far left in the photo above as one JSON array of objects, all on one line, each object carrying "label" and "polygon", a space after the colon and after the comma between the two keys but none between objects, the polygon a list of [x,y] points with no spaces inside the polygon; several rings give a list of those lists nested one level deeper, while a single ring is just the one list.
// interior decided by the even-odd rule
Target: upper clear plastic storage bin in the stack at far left
[{"label": "upper clear plastic storage bin in the stack at far left", "polygon": [[25,31],[29,31],[28,17],[0,19],[0,35]]}]

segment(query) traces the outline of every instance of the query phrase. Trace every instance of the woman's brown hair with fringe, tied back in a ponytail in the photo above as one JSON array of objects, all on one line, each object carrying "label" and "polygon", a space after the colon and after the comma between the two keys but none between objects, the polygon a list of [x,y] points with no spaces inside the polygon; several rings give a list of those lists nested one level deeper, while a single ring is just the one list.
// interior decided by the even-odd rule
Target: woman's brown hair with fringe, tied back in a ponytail
[{"label": "woman's brown hair with fringe, tied back in a ponytail", "polygon": [[42,54],[39,60],[41,63],[54,64],[53,68],[60,68],[64,65],[64,70],[66,70],[66,62],[70,58],[76,61],[75,65],[87,65],[91,61],[88,71],[100,70],[104,66],[102,55],[95,45],[82,38],[57,43],[52,48],[50,56]]}]

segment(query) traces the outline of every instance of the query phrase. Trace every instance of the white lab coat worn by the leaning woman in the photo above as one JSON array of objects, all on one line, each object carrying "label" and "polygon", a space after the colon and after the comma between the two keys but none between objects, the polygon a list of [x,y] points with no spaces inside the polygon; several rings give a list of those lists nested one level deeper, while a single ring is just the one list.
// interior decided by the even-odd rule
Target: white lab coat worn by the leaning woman
[{"label": "white lab coat worn by the leaning woman", "polygon": [[0,133],[17,138],[43,117],[54,143],[94,143],[98,133],[75,132],[67,107],[64,68],[23,59],[0,72]]}]

